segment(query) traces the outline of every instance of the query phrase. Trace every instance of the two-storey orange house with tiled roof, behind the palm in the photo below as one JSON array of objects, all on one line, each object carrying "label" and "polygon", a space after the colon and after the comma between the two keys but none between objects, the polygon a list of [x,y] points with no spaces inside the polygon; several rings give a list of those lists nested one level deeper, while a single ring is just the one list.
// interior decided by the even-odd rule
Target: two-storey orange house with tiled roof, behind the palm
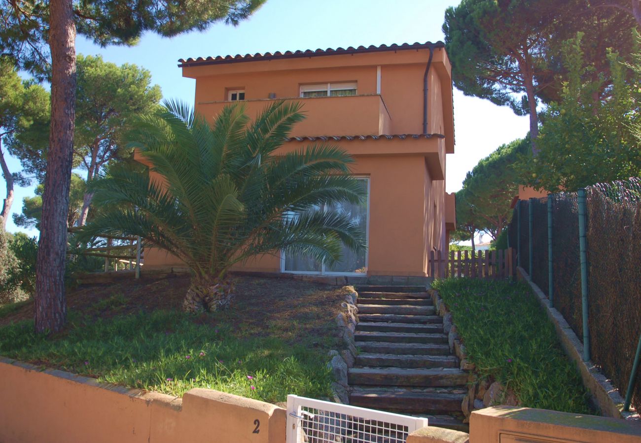
[{"label": "two-storey orange house with tiled roof, behind the palm", "polygon": [[[196,111],[213,117],[243,101],[253,117],[271,101],[296,100],[307,118],[282,153],[329,141],[356,159],[368,198],[347,211],[367,232],[368,250],[337,266],[275,252],[238,270],[423,281],[432,250],[447,250],[454,198],[445,195],[445,159],[454,152],[451,65],[444,44],[403,44],[267,52],[179,60],[196,79]],[[146,268],[178,266],[146,250]]]}]

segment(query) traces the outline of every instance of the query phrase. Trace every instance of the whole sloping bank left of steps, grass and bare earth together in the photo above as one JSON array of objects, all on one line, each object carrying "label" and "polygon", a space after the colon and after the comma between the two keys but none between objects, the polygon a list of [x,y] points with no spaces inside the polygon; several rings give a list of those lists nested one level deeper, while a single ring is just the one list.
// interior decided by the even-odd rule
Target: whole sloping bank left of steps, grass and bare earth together
[{"label": "whole sloping bank left of steps, grass and bare earth together", "polygon": [[231,310],[188,315],[179,309],[188,281],[80,287],[67,296],[69,325],[49,338],[33,332],[33,303],[4,309],[0,355],[176,396],[194,387],[271,403],[329,396],[345,289],[240,277]]}]

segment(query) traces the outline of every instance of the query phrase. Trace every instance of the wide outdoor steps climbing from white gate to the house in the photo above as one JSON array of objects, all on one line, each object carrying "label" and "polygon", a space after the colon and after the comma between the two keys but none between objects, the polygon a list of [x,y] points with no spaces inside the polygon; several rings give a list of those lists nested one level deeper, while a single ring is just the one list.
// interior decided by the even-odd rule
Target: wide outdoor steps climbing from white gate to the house
[{"label": "wide outdoor steps climbing from white gate to the house", "polygon": [[351,405],[467,430],[462,402],[468,374],[459,369],[424,286],[360,287],[354,341],[359,353],[348,371]]}]

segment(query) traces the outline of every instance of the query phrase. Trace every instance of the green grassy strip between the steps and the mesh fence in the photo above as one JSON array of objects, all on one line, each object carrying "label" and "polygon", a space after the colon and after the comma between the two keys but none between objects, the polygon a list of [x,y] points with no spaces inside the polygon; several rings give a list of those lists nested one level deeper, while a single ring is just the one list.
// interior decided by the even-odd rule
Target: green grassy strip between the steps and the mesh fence
[{"label": "green grassy strip between the steps and the mesh fence", "polygon": [[432,287],[482,378],[512,389],[524,407],[592,413],[578,369],[526,284],[448,278]]}]

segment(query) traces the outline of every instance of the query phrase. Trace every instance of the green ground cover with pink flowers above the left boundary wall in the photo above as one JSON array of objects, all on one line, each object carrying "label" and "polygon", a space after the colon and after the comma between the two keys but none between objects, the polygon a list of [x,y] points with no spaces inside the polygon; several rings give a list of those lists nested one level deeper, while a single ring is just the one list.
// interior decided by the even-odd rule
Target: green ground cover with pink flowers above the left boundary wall
[{"label": "green ground cover with pink flowers above the left boundary wall", "polygon": [[317,351],[274,337],[237,339],[232,325],[198,325],[163,310],[70,323],[53,340],[33,332],[31,321],[4,326],[0,354],[176,396],[195,387],[272,403],[292,392],[329,394],[331,374]]}]

